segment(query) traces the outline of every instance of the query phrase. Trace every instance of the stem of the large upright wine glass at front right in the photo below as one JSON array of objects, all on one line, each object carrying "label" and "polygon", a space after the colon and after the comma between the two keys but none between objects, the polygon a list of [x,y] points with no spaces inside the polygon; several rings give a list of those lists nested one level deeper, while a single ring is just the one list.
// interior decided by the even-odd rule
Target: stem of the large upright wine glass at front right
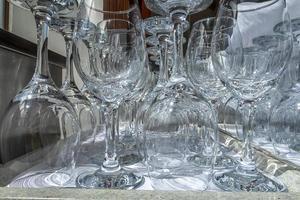
[{"label": "stem of the large upright wine glass at front right", "polygon": [[[248,109],[245,108],[248,105]],[[256,171],[253,148],[251,146],[253,139],[253,120],[256,111],[255,101],[240,102],[241,110],[244,113],[243,119],[243,134],[244,134],[244,147],[242,151],[242,157],[238,168],[242,171]]]}]

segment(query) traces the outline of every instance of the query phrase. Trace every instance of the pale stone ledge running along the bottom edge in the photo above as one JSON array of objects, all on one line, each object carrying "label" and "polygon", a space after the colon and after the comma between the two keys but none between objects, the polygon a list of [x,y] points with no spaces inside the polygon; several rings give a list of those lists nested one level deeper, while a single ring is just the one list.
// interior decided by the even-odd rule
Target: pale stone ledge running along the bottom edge
[{"label": "pale stone ledge running along the bottom edge", "polygon": [[88,189],[0,188],[0,199],[126,199],[126,200],[297,200],[300,193],[162,192]]}]

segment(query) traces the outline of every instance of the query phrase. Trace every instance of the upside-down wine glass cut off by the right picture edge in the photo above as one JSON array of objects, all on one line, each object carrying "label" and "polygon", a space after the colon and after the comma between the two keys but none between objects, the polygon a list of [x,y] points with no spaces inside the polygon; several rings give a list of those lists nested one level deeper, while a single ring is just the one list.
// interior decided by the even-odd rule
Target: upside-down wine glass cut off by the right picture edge
[{"label": "upside-down wine glass cut off by the right picture edge", "polygon": [[[299,26],[300,19],[291,20],[294,36],[293,54],[286,72],[288,84],[283,88],[284,98],[275,108],[271,117],[272,141],[275,152],[287,159],[299,160]],[[274,26],[274,31],[282,33],[285,24]]]}]

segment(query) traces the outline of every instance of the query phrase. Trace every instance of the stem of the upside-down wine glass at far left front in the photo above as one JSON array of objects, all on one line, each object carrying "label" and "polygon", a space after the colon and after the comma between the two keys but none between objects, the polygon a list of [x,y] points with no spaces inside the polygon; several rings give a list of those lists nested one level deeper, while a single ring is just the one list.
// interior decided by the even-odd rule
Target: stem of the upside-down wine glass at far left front
[{"label": "stem of the upside-down wine glass at far left front", "polygon": [[35,78],[51,79],[48,65],[48,34],[51,16],[47,12],[35,11],[37,26],[37,62]]}]

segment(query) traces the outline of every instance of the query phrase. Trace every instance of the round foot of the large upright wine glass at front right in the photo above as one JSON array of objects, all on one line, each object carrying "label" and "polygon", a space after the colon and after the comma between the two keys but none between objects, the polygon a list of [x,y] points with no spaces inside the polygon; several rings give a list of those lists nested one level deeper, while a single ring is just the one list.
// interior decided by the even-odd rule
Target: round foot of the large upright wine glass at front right
[{"label": "round foot of the large upright wine glass at front right", "polygon": [[286,192],[287,187],[275,177],[267,176],[260,171],[251,174],[238,170],[215,173],[213,182],[225,191],[233,192]]}]

